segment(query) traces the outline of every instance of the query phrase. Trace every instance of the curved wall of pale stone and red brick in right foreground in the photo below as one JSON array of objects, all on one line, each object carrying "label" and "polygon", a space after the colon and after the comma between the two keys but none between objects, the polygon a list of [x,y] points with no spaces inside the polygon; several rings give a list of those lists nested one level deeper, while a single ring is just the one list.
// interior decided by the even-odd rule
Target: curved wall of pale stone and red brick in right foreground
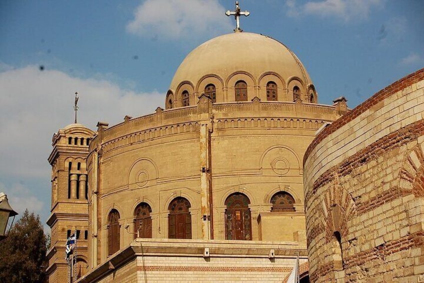
[{"label": "curved wall of pale stone and red brick in right foreground", "polygon": [[424,69],[323,129],[304,156],[313,282],[424,281]]}]

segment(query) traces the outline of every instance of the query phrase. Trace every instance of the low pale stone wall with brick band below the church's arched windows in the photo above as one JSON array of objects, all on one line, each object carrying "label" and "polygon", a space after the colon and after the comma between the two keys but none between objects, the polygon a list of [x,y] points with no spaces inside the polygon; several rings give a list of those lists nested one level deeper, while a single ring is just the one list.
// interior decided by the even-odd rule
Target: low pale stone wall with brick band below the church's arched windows
[{"label": "low pale stone wall with brick band below the church's arched windows", "polygon": [[136,239],[78,282],[281,282],[297,252],[306,263],[294,242]]}]

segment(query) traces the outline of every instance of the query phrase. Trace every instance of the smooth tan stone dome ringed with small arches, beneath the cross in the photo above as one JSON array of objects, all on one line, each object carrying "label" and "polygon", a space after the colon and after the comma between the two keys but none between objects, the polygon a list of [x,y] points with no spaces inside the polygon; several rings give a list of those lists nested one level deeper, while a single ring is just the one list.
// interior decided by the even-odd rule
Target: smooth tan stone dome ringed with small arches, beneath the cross
[{"label": "smooth tan stone dome ringed with small arches, beneath the cross", "polygon": [[[235,101],[230,92],[238,80],[245,81],[247,88],[251,88],[249,100],[254,96],[266,100],[266,83],[272,81],[282,94],[278,101],[293,101],[289,92],[297,86],[301,100],[312,92],[315,101],[309,102],[316,102],[310,77],[291,50],[267,36],[236,32],[213,38],[185,57],[172,79],[166,104],[171,96],[173,107],[187,106],[181,105],[181,94],[185,90],[190,100],[193,98],[189,105],[195,105],[208,83],[216,87],[215,102]],[[172,108],[168,106],[166,108]]]}]

